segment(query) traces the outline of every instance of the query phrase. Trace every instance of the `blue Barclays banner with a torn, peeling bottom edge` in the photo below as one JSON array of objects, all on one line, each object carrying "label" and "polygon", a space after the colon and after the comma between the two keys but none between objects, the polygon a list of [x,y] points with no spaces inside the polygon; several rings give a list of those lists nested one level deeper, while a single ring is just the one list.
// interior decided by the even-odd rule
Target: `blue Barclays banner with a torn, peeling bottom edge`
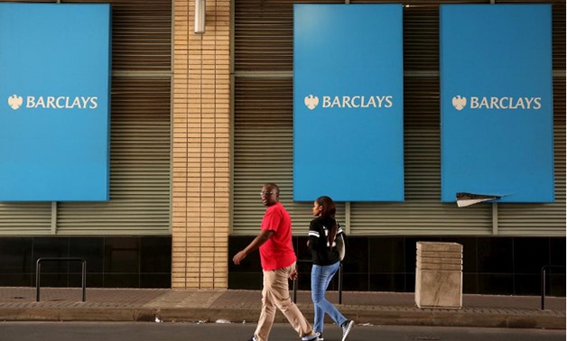
[{"label": "blue Barclays banner with a torn, peeling bottom edge", "polygon": [[442,5],[442,201],[553,202],[551,5]]}]

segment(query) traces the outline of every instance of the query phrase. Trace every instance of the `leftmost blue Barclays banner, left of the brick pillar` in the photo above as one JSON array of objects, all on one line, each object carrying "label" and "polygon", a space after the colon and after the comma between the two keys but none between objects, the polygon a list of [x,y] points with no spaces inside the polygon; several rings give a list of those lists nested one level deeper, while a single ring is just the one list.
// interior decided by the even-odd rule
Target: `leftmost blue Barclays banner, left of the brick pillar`
[{"label": "leftmost blue Barclays banner, left of the brick pillar", "polygon": [[0,201],[109,199],[110,12],[0,4]]}]

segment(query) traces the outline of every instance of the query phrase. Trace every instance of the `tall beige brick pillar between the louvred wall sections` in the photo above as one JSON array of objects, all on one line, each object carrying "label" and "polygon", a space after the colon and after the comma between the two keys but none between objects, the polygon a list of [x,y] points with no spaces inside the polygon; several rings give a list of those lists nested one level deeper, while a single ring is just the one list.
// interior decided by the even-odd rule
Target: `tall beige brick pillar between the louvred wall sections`
[{"label": "tall beige brick pillar between the louvred wall sections", "polygon": [[228,287],[230,3],[173,3],[172,288]]}]

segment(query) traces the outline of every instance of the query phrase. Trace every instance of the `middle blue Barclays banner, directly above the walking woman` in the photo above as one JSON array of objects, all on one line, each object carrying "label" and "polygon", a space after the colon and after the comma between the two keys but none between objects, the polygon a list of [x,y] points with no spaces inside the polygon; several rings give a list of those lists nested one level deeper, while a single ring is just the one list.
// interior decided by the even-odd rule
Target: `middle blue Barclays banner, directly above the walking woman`
[{"label": "middle blue Barclays banner, directly above the walking woman", "polygon": [[293,9],[293,199],[404,201],[402,5]]}]

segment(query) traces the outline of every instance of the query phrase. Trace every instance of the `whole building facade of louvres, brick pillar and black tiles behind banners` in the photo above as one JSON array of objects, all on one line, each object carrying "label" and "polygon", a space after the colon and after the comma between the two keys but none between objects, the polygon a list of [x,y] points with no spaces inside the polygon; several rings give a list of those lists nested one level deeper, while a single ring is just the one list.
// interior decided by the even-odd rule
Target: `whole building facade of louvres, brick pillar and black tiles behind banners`
[{"label": "whole building facade of louvres, brick pillar and black tiles behind banners", "polygon": [[[350,2],[370,3],[392,2]],[[463,244],[465,293],[539,294],[554,265],[547,293],[564,296],[565,2],[552,2],[555,202],[471,207],[440,200],[439,5],[449,3],[464,2],[402,2],[405,198],[339,203],[344,290],[412,291],[415,243],[443,241]],[[110,200],[0,203],[0,286],[33,285],[40,257],[82,257],[89,287],[259,289],[257,253],[230,259],[257,234],[262,185],[276,182],[308,289],[312,203],[292,195],[293,1],[208,1],[204,33],[193,1],[110,4]],[[43,272],[43,285],[80,283],[79,264]]]}]

